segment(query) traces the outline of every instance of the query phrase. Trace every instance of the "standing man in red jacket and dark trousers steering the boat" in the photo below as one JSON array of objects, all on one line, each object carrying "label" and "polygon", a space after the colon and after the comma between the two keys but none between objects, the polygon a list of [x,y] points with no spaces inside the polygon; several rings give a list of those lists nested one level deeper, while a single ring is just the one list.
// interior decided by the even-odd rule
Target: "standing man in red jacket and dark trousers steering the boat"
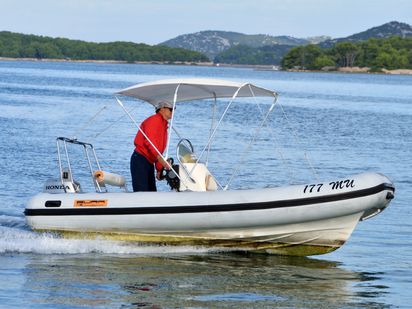
[{"label": "standing man in red jacket and dark trousers steering the boat", "polygon": [[157,179],[160,179],[162,168],[170,169],[159,153],[163,154],[166,148],[168,121],[172,118],[172,113],[173,105],[167,101],[161,101],[156,105],[156,114],[144,120],[140,125],[134,139],[135,150],[130,159],[134,192],[157,191],[155,168]]}]

